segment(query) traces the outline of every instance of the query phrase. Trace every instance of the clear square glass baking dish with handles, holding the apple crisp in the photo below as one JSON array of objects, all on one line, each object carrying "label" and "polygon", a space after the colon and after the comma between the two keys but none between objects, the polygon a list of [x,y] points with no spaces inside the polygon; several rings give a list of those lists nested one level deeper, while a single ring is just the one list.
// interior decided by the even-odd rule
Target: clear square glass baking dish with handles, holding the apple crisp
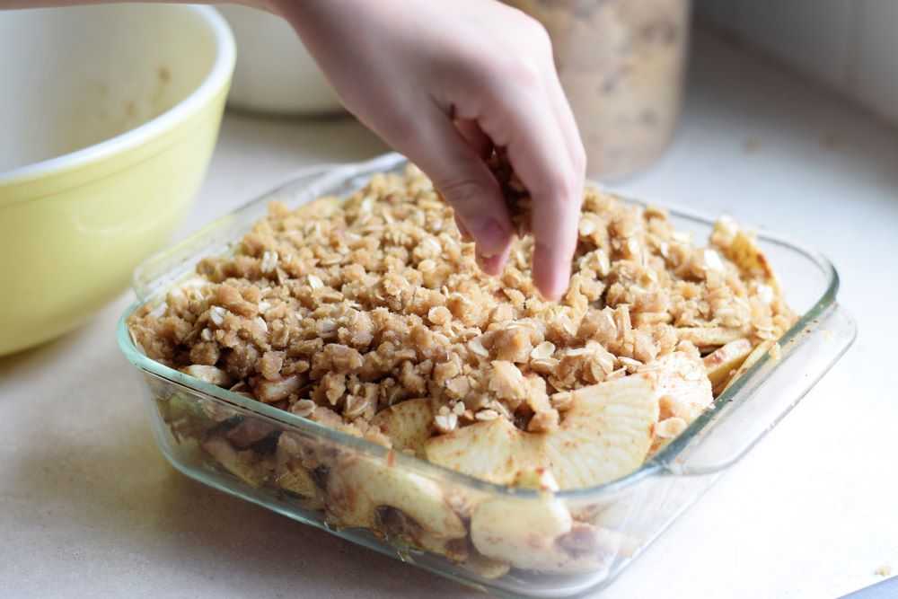
[{"label": "clear square glass baking dish with handles, holding the apple crisp", "polygon": [[[832,264],[777,236],[759,235],[788,301],[803,314],[780,339],[779,359],[762,357],[637,471],[594,488],[554,494],[490,484],[394,453],[203,383],[136,348],[128,316],[145,304],[160,304],[173,285],[189,277],[200,258],[230,251],[265,214],[270,201],[296,207],[321,196],[345,196],[373,173],[399,172],[404,166],[404,158],[387,154],[367,163],[304,172],[136,271],[138,299],[119,322],[119,347],[143,377],[154,435],[175,468],[216,489],[494,595],[584,595],[608,585],[720,473],[776,426],[855,338],[854,323],[836,303],[839,277]],[[712,219],[677,208],[670,209],[670,217],[675,226],[702,237],[713,226]],[[235,427],[261,430],[260,441],[236,451],[221,441]],[[360,513],[365,517],[350,517]],[[506,535],[501,542],[521,542],[528,548],[520,552],[515,567],[472,549],[471,534],[497,531]]]}]

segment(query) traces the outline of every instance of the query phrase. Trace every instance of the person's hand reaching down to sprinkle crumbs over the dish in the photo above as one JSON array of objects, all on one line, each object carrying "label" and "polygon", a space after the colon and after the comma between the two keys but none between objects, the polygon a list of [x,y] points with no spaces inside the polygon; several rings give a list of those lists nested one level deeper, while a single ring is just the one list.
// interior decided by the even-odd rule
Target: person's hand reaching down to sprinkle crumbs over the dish
[{"label": "person's hand reaching down to sprinkle crumbs over the dish", "polygon": [[[585,154],[541,25],[494,0],[272,0],[348,110],[418,164],[497,274],[513,231],[493,146],[533,198],[533,279],[558,299],[577,243]],[[289,60],[289,57],[285,57]]]}]

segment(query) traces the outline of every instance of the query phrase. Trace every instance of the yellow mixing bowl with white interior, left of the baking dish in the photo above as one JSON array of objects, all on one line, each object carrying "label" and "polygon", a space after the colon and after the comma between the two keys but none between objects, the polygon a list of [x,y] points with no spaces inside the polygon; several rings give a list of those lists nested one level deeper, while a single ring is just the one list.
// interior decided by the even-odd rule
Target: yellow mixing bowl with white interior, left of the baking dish
[{"label": "yellow mixing bowl with white interior, left of the baking dish", "polygon": [[0,355],[84,322],[196,195],[234,65],[212,8],[0,11]]}]

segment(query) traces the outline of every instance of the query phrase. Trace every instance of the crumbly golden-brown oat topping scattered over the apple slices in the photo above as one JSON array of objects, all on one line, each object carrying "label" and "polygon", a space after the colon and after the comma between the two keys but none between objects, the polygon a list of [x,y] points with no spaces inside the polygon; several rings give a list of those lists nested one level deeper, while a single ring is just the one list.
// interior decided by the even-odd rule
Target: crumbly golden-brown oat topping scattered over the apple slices
[{"label": "crumbly golden-brown oat topping scattered over the apple slices", "polygon": [[[499,176],[525,233],[529,198],[513,173]],[[730,219],[700,247],[664,210],[588,189],[558,304],[531,282],[532,250],[524,235],[500,277],[481,273],[452,209],[409,167],[343,203],[273,203],[232,255],[202,260],[196,280],[129,327],[163,364],[302,416],[328,410],[348,429],[427,398],[440,435],[496,418],[555,430],[570,392],[674,352],[709,355],[720,391],[738,359],[794,322]],[[687,424],[667,418],[656,435]]]}]

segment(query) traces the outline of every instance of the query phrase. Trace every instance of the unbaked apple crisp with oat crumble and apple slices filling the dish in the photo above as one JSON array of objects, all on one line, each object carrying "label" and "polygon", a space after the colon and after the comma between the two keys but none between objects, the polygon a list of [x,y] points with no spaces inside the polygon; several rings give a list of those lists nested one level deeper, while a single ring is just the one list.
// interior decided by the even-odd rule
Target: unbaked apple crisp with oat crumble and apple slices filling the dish
[{"label": "unbaked apple crisp with oat crumble and apple slices filling the dish", "polygon": [[[795,322],[732,220],[699,245],[664,210],[596,189],[568,291],[544,301],[529,198],[513,173],[497,177],[521,233],[499,277],[480,271],[451,207],[409,167],[350,198],[272,203],[232,252],[201,260],[128,328],[148,357],[206,383],[480,480],[555,491],[636,470]],[[538,550],[489,516],[517,509],[506,500],[476,504],[262,419],[165,410],[176,438],[243,482],[481,573],[595,568],[601,556],[582,546],[613,534],[546,498],[533,518],[554,532]]]}]

